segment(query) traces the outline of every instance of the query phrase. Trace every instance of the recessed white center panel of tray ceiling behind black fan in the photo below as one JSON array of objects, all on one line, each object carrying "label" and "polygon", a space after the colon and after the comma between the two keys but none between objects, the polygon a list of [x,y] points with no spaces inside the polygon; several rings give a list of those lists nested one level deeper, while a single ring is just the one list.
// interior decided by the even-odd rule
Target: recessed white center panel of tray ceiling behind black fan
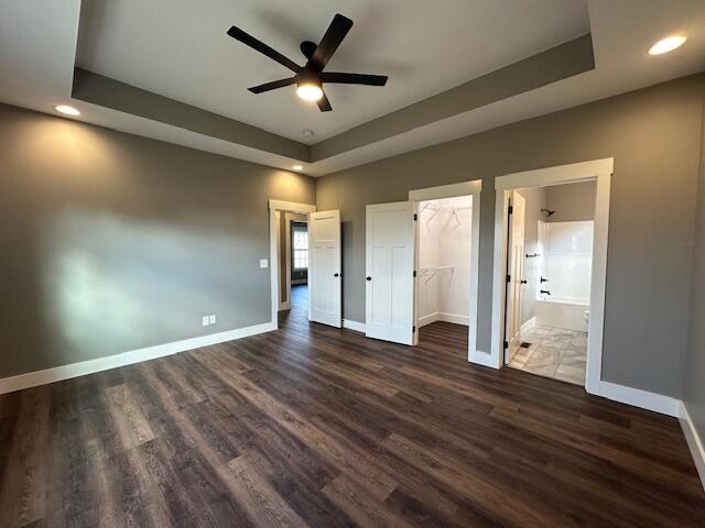
[{"label": "recessed white center panel of tray ceiling behind black fan", "polygon": [[[303,64],[300,43],[318,42],[336,12],[355,24],[326,69],[389,75],[384,88],[326,85],[327,113],[293,86],[247,90],[293,74],[226,35],[230,25]],[[589,23],[584,0],[93,0],[79,28],[85,69],[316,142],[583,35]]]}]

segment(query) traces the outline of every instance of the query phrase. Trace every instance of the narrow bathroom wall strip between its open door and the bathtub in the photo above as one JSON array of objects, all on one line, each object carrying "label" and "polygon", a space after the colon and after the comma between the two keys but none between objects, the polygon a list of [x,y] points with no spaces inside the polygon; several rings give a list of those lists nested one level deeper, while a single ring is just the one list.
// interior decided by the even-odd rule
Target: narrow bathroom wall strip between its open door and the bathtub
[{"label": "narrow bathroom wall strip between its open door and the bathtub", "polygon": [[[525,189],[517,189],[517,191],[527,200],[527,210],[524,213],[524,254],[538,253],[539,244],[539,220],[543,219],[541,208],[545,207],[546,187],[531,187]],[[524,257],[524,278],[527,285],[521,298],[521,323],[534,317],[534,305],[536,304],[536,284],[539,277],[538,257]]]}]

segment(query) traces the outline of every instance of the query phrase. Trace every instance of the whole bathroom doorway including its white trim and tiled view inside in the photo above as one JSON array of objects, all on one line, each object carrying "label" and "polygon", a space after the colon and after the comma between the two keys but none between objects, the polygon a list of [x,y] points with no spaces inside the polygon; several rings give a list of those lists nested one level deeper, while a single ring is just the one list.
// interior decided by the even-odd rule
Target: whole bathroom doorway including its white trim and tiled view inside
[{"label": "whole bathroom doorway including its white trim and tiled view inside", "polygon": [[499,366],[599,391],[611,166],[600,160],[497,178],[491,355]]}]

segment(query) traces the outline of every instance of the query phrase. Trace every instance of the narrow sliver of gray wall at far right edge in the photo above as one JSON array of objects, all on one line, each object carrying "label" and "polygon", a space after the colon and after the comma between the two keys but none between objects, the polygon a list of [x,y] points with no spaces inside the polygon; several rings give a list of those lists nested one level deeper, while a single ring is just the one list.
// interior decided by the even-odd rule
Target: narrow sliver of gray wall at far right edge
[{"label": "narrow sliver of gray wall at far right edge", "polygon": [[697,188],[693,271],[688,356],[683,399],[701,439],[705,439],[705,120],[703,121],[701,179]]}]

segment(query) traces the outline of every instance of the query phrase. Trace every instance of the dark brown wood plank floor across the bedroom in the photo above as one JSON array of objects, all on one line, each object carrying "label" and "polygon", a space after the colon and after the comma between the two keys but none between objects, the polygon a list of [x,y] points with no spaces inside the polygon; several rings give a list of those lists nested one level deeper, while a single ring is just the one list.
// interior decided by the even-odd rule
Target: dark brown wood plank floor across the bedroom
[{"label": "dark brown wood plank floor across the bedroom", "polygon": [[294,292],[276,332],[0,396],[0,526],[705,526],[675,419]]}]

